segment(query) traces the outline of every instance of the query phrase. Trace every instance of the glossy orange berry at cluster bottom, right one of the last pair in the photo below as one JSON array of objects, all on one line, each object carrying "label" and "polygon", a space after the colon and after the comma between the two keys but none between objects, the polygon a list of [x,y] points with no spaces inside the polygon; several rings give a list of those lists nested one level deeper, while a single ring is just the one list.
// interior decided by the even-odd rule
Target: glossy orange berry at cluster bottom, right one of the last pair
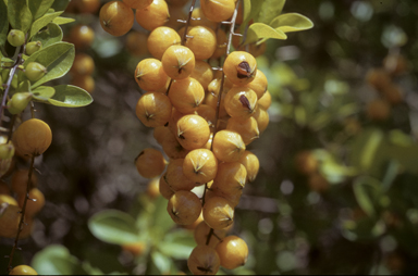
[{"label": "glossy orange berry at cluster bottom, right one of the last pair", "polygon": [[226,269],[234,269],[244,265],[248,259],[248,246],[237,236],[228,236],[217,244],[217,253],[221,265]]}]

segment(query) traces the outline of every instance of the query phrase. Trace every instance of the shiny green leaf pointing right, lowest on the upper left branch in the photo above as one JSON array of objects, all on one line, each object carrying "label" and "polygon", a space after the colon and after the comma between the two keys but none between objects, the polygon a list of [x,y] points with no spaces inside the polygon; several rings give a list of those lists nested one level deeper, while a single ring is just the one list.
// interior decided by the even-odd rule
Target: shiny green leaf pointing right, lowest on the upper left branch
[{"label": "shiny green leaf pointing right, lowest on the upper left branch", "polygon": [[86,90],[72,86],[60,85],[53,87],[56,93],[52,98],[48,99],[47,103],[61,108],[81,108],[86,106],[93,102],[93,98]]}]

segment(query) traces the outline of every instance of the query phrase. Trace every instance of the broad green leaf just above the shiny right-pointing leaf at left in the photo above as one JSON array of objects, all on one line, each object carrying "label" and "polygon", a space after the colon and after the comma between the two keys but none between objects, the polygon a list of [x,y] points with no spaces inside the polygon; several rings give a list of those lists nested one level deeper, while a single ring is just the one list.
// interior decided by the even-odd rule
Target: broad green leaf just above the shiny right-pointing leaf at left
[{"label": "broad green leaf just above the shiny right-pointing leaf at left", "polygon": [[65,75],[73,65],[75,55],[74,45],[67,42],[58,42],[35,52],[24,63],[38,62],[47,68],[47,74],[32,85],[36,88],[51,79],[60,78]]}]

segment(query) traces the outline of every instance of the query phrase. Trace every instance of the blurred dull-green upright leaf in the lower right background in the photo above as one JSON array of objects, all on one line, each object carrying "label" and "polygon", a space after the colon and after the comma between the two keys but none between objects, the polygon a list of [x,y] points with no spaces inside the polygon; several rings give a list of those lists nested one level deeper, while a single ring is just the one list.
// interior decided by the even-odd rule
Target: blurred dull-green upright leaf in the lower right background
[{"label": "blurred dull-green upright leaf in the lower right background", "polygon": [[369,176],[360,176],[354,180],[353,189],[354,196],[358,205],[369,216],[376,214],[374,202],[381,192],[380,181]]}]

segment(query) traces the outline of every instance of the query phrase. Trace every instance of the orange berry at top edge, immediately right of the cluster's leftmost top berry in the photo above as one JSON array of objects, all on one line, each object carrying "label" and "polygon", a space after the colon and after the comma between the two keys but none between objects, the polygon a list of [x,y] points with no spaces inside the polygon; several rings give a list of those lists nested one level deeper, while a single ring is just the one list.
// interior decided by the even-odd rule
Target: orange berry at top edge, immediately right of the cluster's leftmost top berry
[{"label": "orange berry at top edge, immediately right of the cluster's leftmost top berry", "polygon": [[148,30],[164,25],[169,18],[169,7],[164,0],[153,0],[147,8],[136,10],[136,22]]}]

